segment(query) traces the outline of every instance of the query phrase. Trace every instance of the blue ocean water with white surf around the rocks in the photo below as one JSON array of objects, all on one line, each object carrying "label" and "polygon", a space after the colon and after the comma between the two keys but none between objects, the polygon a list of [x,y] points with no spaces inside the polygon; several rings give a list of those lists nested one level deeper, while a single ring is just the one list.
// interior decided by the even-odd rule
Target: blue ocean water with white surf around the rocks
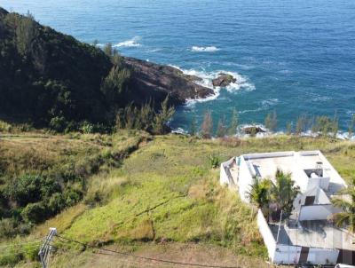
[{"label": "blue ocean water with white surf around the rocks", "polygon": [[[352,0],[0,0],[14,12],[81,41],[114,43],[127,56],[237,83],[204,101],[177,107],[171,126],[188,130],[210,110],[214,119],[278,127],[335,113],[347,129],[355,114],[355,1]],[[217,124],[217,123],[216,123]]]}]

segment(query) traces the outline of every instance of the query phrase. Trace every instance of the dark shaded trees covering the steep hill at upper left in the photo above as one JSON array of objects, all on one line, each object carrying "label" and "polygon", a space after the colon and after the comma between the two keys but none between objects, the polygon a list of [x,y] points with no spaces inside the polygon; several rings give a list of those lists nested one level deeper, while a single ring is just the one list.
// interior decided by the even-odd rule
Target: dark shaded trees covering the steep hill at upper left
[{"label": "dark shaded trees covering the steep hill at upper left", "polygon": [[0,8],[0,119],[59,132],[107,132],[117,117],[141,116],[154,126],[125,127],[162,133],[169,118],[154,99],[135,96],[134,75],[110,44],[102,51],[41,26],[30,14]]}]

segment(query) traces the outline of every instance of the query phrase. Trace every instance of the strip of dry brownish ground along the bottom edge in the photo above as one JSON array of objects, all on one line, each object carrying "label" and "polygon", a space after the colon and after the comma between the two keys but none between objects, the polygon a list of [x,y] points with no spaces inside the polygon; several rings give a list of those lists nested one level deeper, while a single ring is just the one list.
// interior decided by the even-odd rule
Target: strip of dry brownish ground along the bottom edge
[{"label": "strip of dry brownish ground along the bottom edge", "polygon": [[[127,248],[110,249],[127,252]],[[264,259],[236,256],[233,251],[226,248],[216,246],[206,246],[193,243],[151,243],[138,247],[134,252],[135,256],[146,256],[152,259],[169,260],[177,263],[185,264],[200,264],[198,265],[184,265],[184,264],[168,264],[154,260],[146,260],[135,258],[132,256],[122,256],[105,251],[84,252],[75,258],[67,256],[67,263],[59,263],[59,259],[54,259],[53,267],[165,267],[165,268],[179,268],[179,267],[241,267],[241,268],[271,268],[275,267],[272,264],[267,264]]]}]

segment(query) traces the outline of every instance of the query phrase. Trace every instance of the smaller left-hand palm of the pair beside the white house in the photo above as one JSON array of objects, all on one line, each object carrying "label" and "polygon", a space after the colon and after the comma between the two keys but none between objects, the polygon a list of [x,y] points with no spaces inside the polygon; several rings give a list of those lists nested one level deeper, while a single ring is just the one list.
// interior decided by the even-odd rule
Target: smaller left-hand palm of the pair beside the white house
[{"label": "smaller left-hand palm of the pair beside the white house", "polygon": [[270,202],[270,189],[272,181],[270,179],[260,179],[254,177],[254,182],[250,185],[247,193],[248,200],[255,204],[258,209],[265,209]]}]

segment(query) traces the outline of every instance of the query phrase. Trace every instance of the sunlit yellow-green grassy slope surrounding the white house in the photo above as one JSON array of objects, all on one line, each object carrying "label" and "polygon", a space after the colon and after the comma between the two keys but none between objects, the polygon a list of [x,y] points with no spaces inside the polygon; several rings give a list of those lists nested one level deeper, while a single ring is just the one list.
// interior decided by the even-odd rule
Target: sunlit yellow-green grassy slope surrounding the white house
[{"label": "sunlit yellow-green grassy slope surrounding the white house", "polygon": [[[114,137],[117,144],[127,146],[128,137],[124,138],[124,135],[123,138],[120,135],[105,136],[104,140]],[[13,140],[28,143],[27,138],[8,137],[3,139],[2,145],[9,146]],[[98,146],[96,138],[96,141],[89,141],[92,138],[57,137],[64,144]],[[99,140],[99,146],[105,147],[102,138]],[[48,227],[55,226],[62,235],[89,245],[105,245],[143,256],[209,264],[235,265],[240,262],[245,267],[266,267],[263,262],[265,248],[257,232],[255,211],[218,184],[219,170],[211,168],[209,156],[215,155],[225,161],[245,153],[309,149],[322,150],[345,179],[355,176],[352,164],[355,145],[349,141],[286,136],[242,140],[158,136],[140,143],[139,149],[130,154],[122,166],[105,165],[104,172],[92,176],[83,201],[44,224],[36,225],[26,237],[4,240],[0,247],[23,240],[37,240],[48,232]],[[148,265],[122,256],[98,255],[97,251],[85,250],[74,243],[56,240],[56,245],[62,249],[53,256],[53,267]],[[26,248],[17,247],[18,252],[23,252],[17,259],[16,255],[11,255],[11,250],[8,252],[15,259],[14,263],[33,258],[30,250],[28,253]],[[206,252],[211,254],[206,255]],[[23,265],[28,266],[28,263]]]}]

